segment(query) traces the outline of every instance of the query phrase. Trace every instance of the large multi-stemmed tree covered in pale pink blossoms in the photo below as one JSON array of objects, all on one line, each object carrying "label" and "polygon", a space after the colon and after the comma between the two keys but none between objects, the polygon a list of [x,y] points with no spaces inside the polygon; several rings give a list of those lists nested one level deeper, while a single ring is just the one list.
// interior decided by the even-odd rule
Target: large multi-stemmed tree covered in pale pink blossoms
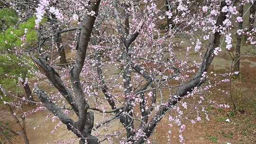
[{"label": "large multi-stemmed tree covered in pale pink blossoms", "polygon": [[[229,108],[208,99],[206,93],[228,81],[217,81],[219,76],[209,71],[219,52],[232,49],[231,29],[237,23],[232,19],[240,22],[241,18],[237,18],[236,6],[231,0],[163,2],[163,9],[155,0],[40,0],[31,6],[36,9],[41,42],[29,54],[38,76],[46,77],[58,92],[48,94],[40,81],[34,91],[42,107],[66,125],[80,144],[99,144],[114,136],[120,137],[121,144],[150,143],[155,127],[170,109],[177,111],[169,115],[169,121],[180,127],[179,138],[184,143],[184,109],[197,112],[197,117],[187,119],[195,123],[201,120],[199,111],[209,119],[201,106],[204,103]],[[47,22],[39,26],[44,17]],[[157,27],[165,18],[170,25],[167,30]],[[74,59],[62,67],[54,56],[56,31],[58,35],[69,33],[71,40],[62,41],[75,52]],[[239,32],[243,34],[242,29]],[[183,44],[183,40],[188,42]],[[186,50],[177,52],[180,45]],[[191,61],[191,54],[199,59]],[[197,99],[197,104],[190,105],[191,99]],[[63,107],[63,103],[68,104]],[[104,117],[96,124],[95,113]],[[101,126],[115,120],[122,129],[97,134]]]}]

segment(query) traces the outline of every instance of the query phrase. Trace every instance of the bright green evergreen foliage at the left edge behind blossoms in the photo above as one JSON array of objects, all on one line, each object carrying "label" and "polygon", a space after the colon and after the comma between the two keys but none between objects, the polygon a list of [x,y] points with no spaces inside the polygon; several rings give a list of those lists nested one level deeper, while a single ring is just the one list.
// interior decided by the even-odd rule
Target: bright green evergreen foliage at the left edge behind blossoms
[{"label": "bright green evergreen foliage at the left edge behind blossoms", "polygon": [[[1,29],[6,27],[6,30],[0,33],[0,85],[13,90],[19,78],[29,77],[29,69],[33,65],[27,54],[22,53],[37,45],[35,18],[18,23],[15,12],[5,8],[0,10],[0,21],[4,22]],[[23,45],[24,41],[26,45]],[[15,54],[18,52],[21,53],[19,56]]]}]

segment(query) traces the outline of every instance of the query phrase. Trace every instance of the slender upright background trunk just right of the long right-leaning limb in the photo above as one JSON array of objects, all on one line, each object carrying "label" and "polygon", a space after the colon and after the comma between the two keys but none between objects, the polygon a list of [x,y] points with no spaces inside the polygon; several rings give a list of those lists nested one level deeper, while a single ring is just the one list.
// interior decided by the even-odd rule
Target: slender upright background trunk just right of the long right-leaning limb
[{"label": "slender upright background trunk just right of the long right-leaning limb", "polygon": [[[243,18],[244,13],[244,5],[238,7],[239,17]],[[243,29],[243,21],[238,22],[238,29]],[[237,34],[237,46],[236,46],[236,57],[235,57],[235,71],[240,71],[240,49],[241,49],[241,42],[242,42],[242,34]]]}]

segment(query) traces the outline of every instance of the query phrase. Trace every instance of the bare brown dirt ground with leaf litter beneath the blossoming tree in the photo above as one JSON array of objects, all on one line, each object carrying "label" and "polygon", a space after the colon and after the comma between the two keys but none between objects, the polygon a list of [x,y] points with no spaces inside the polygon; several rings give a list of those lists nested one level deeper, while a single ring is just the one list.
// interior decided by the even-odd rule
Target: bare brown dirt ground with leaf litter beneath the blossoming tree
[{"label": "bare brown dirt ground with leaf litter beneath the blossoming tree", "polygon": [[[72,55],[72,54],[68,54]],[[229,63],[221,56],[215,58],[213,67],[226,67],[228,69]],[[223,62],[225,62],[223,64]],[[243,95],[237,95],[237,99],[241,99],[238,105],[238,111],[232,111],[232,108],[220,110],[216,108],[209,109],[210,121],[202,119],[202,121],[192,124],[185,122],[185,131],[183,137],[186,144],[256,144],[256,59],[252,56],[246,56],[241,59],[241,77],[234,80],[234,88],[240,87]],[[225,103],[231,104],[230,97],[214,95],[214,99],[221,99]],[[10,113],[0,107],[0,120],[8,120],[9,126],[17,129],[15,122],[10,120]],[[170,111],[171,113],[171,111]],[[232,115],[230,115],[232,113]],[[57,122],[52,122],[47,116],[52,117],[48,110],[42,110],[35,114],[31,114],[26,118],[27,136],[30,144],[55,144],[57,141],[75,140],[73,144],[78,144],[76,136],[66,129],[66,126],[61,125],[57,128],[54,134],[51,131],[57,126]],[[71,117],[75,117],[71,115]],[[96,122],[101,121],[103,117],[99,114],[94,115]],[[225,121],[227,118],[230,122]],[[172,144],[179,143],[178,127],[168,127],[168,114],[156,126],[155,132],[151,137],[152,144],[166,144],[168,140],[168,130],[172,130],[171,137]],[[111,128],[101,128],[98,134],[112,133],[122,128],[118,121],[114,122]],[[92,134],[95,135],[93,131]],[[22,137],[14,137],[13,144],[24,144]],[[119,143],[118,139],[114,140],[115,144]],[[64,143],[65,144],[65,143]],[[69,143],[67,143],[69,144]],[[108,144],[107,141],[102,144]]]}]

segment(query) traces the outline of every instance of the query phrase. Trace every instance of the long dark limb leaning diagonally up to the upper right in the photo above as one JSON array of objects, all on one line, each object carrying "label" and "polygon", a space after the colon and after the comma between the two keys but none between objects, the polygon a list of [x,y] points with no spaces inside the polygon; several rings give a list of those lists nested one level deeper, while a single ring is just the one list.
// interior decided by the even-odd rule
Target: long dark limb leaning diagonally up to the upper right
[{"label": "long dark limb leaning diagonally up to the upper right", "polygon": [[[222,9],[224,6],[226,6],[226,2],[221,1],[220,9]],[[222,22],[226,19],[226,15],[227,15],[227,12],[226,13],[220,12],[219,17],[217,19],[217,23],[216,23],[217,27],[223,24]],[[153,133],[155,126],[164,117],[167,110],[169,110],[170,108],[173,108],[178,103],[178,101],[182,99],[182,97],[184,97],[189,92],[191,92],[195,87],[200,86],[205,81],[205,80],[201,81],[202,73],[207,72],[214,58],[213,51],[216,47],[219,46],[220,37],[221,37],[220,32],[215,32],[215,34],[212,35],[209,47],[204,55],[203,61],[201,63],[201,67],[198,70],[197,74],[189,82],[178,87],[178,90],[174,94],[176,98],[174,99],[170,98],[169,101],[166,103],[166,105],[162,105],[159,108],[155,117],[152,118],[152,120],[147,124],[147,126],[141,127],[143,128],[145,136],[139,138],[134,144],[144,143],[145,140]]]}]

